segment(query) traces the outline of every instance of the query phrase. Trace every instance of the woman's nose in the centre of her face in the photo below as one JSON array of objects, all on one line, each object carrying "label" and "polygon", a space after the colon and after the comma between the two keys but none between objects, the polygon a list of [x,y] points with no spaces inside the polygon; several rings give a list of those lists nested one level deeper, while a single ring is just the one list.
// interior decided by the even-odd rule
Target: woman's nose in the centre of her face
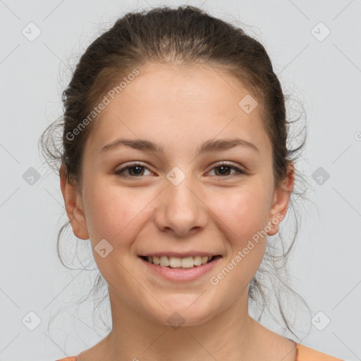
[{"label": "woman's nose in the centre of her face", "polygon": [[202,192],[185,179],[178,185],[166,181],[158,198],[154,222],[162,232],[184,237],[200,231],[207,224],[207,205]]}]

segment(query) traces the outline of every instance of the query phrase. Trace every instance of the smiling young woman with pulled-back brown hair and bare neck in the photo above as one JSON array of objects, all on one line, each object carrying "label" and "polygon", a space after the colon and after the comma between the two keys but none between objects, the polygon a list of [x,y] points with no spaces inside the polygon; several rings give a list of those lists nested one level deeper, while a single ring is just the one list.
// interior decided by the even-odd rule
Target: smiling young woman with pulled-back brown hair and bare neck
[{"label": "smiling young woman with pulled-back brown hair and bare neck", "polygon": [[190,6],[128,13],[87,48],[63,103],[61,192],[112,316],[63,361],[338,360],[248,313],[300,149],[262,44]]}]

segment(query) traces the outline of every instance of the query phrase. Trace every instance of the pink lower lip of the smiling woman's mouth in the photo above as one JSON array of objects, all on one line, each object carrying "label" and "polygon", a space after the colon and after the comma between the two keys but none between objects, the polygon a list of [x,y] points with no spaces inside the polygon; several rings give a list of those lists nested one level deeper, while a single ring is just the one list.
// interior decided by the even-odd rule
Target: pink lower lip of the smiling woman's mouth
[{"label": "pink lower lip of the smiling woman's mouth", "polygon": [[209,263],[205,263],[200,266],[195,266],[188,269],[176,269],[176,268],[162,267],[157,264],[147,262],[145,261],[145,259],[139,257],[139,259],[142,261],[143,264],[145,264],[147,269],[163,277],[164,279],[173,282],[193,281],[195,279],[198,279],[201,276],[204,276],[205,274],[212,271],[212,269],[214,269],[214,267],[221,258],[222,257],[217,257]]}]

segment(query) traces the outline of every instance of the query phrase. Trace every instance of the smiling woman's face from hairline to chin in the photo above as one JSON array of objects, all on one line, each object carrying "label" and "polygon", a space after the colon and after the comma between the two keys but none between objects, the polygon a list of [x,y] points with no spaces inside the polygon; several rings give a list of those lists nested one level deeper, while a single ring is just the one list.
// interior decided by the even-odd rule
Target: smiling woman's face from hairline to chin
[{"label": "smiling woman's face from hairline to chin", "polygon": [[[75,235],[90,238],[113,302],[162,324],[200,324],[247,305],[267,233],[278,230],[267,226],[289,196],[274,189],[260,104],[232,75],[138,70],[94,120],[68,216]],[[207,255],[218,257],[193,265]],[[175,258],[163,257],[166,268],[141,256]]]}]

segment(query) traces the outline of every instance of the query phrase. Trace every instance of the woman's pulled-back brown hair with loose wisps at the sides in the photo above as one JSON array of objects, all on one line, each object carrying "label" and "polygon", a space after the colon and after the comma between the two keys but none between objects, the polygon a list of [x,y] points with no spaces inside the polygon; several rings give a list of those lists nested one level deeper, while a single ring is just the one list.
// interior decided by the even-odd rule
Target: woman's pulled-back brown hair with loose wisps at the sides
[{"label": "woman's pulled-back brown hair with loose wisps at the sides", "polygon": [[[286,119],[285,97],[267,51],[240,27],[214,18],[193,6],[163,6],[150,11],[127,13],[87,47],[73,72],[71,82],[63,91],[64,113],[61,123],[52,123],[39,140],[44,157],[50,166],[55,161],[54,169],[59,175],[61,171],[65,171],[68,181],[74,181],[81,187],[82,152],[96,120],[82,129],[75,140],[69,140],[66,135],[80,125],[99,99],[102,99],[106,91],[119,79],[149,62],[179,66],[208,64],[215,69],[226,70],[240,80],[262,106],[262,121],[273,149],[274,185],[276,188],[281,185],[281,181],[287,176],[288,164],[295,163],[306,137],[298,147],[288,149],[289,127],[293,122]],[[59,146],[53,138],[56,128],[63,130]],[[302,176],[296,169],[295,184],[298,178]],[[295,192],[295,188],[291,196],[302,195]],[[293,206],[292,197],[290,206]],[[298,217],[295,217],[295,222],[295,235],[288,249],[285,249],[279,234],[280,255],[274,252],[279,240],[275,244],[267,242],[262,267],[253,277],[249,288],[250,299],[259,303],[263,313],[267,307],[267,297],[262,276],[276,276],[276,280],[280,281],[276,286],[271,278],[274,294],[281,317],[292,333],[290,323],[283,313],[278,290],[281,287],[290,290],[280,270],[286,274],[286,260],[298,233]],[[58,254],[61,233],[69,223],[64,224],[59,231]],[[61,259],[60,255],[59,257]],[[94,290],[104,284],[102,275],[98,274]],[[303,300],[302,302],[305,303]],[[307,306],[306,303],[305,305]]]}]

